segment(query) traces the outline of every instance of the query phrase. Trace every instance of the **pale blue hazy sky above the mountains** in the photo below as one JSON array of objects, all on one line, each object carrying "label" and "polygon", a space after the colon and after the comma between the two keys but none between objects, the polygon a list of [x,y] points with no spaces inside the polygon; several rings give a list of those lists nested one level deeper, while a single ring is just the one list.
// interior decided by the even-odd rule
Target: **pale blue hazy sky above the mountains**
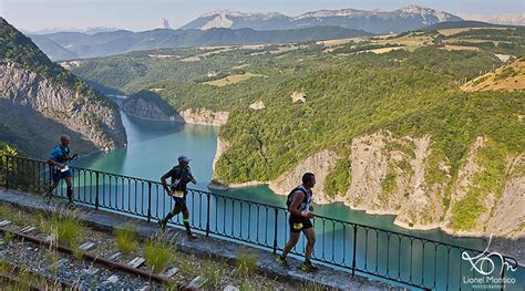
[{"label": "pale blue hazy sky above the mountains", "polygon": [[172,28],[218,9],[244,12],[277,11],[288,15],[319,9],[395,10],[406,4],[462,14],[524,13],[525,0],[0,0],[0,15],[18,29],[112,27],[148,30],[165,18]]}]

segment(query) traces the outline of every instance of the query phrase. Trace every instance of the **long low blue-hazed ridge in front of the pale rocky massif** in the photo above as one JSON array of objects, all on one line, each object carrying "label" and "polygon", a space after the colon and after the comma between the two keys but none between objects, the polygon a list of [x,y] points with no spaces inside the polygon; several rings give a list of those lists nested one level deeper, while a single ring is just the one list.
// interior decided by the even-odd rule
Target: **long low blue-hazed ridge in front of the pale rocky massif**
[{"label": "long low blue-hazed ridge in front of the pale rocky massif", "polygon": [[85,59],[131,51],[226,44],[271,44],[370,37],[370,32],[341,27],[313,27],[294,30],[255,31],[253,29],[169,30],[143,32],[119,30],[93,35],[59,32],[30,35],[51,60]]}]

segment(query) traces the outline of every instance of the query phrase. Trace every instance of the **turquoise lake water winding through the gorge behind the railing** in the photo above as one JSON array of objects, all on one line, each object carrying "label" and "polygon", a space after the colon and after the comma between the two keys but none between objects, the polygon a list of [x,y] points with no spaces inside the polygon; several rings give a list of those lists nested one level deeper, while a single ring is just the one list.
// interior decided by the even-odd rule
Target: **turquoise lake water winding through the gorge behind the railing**
[{"label": "turquoise lake water winding through the gorge behind the railing", "polygon": [[[207,188],[207,184],[210,181],[213,176],[212,165],[216,152],[218,127],[175,122],[146,121],[127,116],[125,114],[122,115],[122,118],[128,138],[126,147],[82,157],[76,160],[73,166],[158,181],[164,173],[177,164],[177,156],[185,154],[193,159],[191,162],[191,167],[198,181],[196,186],[192,185],[192,187],[203,191],[210,191]],[[71,147],[74,152],[74,141],[72,142]],[[254,202],[285,207],[286,197],[275,195],[266,186],[247,187],[226,191],[215,190],[214,193]],[[189,198],[189,200],[192,200],[192,198]],[[194,202],[196,201],[197,200],[194,198]],[[133,204],[133,201],[130,200],[128,204]],[[162,209],[162,211],[168,211],[169,207],[171,206],[166,204],[165,209]],[[213,220],[212,222],[216,230],[229,231],[228,233],[235,236],[239,236],[240,233],[241,237],[247,236],[246,238],[248,239],[255,239],[256,236],[258,239],[259,235],[265,236],[265,231],[274,232],[275,230],[271,222],[275,221],[275,219],[271,217],[268,218],[268,216],[272,214],[269,212],[269,210],[261,210],[262,212],[259,214],[259,209],[257,210],[257,214],[254,214],[251,207],[249,207],[249,209],[247,209],[247,207],[243,209],[243,206],[240,205],[233,204],[229,206],[225,199],[214,199],[212,201],[212,208],[214,215],[212,215],[210,219]],[[191,211],[193,209],[191,208]],[[464,248],[484,250],[487,243],[487,241],[481,239],[453,238],[441,230],[406,230],[393,224],[393,216],[367,215],[364,211],[352,210],[342,204],[315,205],[315,210],[316,214],[320,216],[421,237],[429,240],[453,243]],[[204,218],[200,216],[193,219],[199,220],[198,222],[200,224]],[[224,221],[215,221],[220,219],[224,219]],[[248,221],[248,224],[239,225],[240,227],[237,227],[237,225],[234,224],[234,220],[238,219],[250,219],[254,221],[256,219],[257,221],[266,219],[265,227],[267,229],[259,229],[258,225],[261,222],[254,221]],[[285,221],[285,218],[281,220]],[[268,224],[268,221],[271,224]],[[196,224],[196,221],[193,222]],[[322,257],[326,260],[336,260],[348,264],[348,260],[351,260],[352,257],[351,243],[348,241],[353,238],[351,229],[346,229],[342,225],[332,224],[326,227],[325,224],[321,225],[322,221],[316,222],[316,230],[318,232],[316,256]],[[268,226],[270,226],[269,229]],[[287,240],[287,227],[286,222],[278,224],[276,233],[282,233],[277,239],[278,246],[284,246]],[[360,228],[358,233],[360,239],[357,242],[359,245],[357,246],[356,266],[360,269],[375,273],[387,273],[388,271],[389,274],[395,273],[394,278],[400,280],[409,280],[411,279],[410,274],[413,274],[416,278],[421,278],[422,282],[425,280],[425,284],[430,284],[436,290],[456,290],[461,283],[462,279],[460,278],[454,280],[449,279],[447,281],[450,283],[446,285],[445,277],[447,274],[443,271],[446,268],[451,270],[449,276],[455,274],[457,277],[459,270],[461,269],[464,273],[480,277],[478,274],[474,274],[475,271],[472,270],[470,262],[460,259],[460,253],[451,254],[450,251],[447,253],[447,250],[444,248],[433,248],[432,250],[432,247],[429,246],[432,243],[423,245],[419,242],[419,240],[411,241],[406,238],[400,238],[398,235],[390,236],[388,232],[378,233],[378,231],[369,231],[366,228]],[[265,238],[267,239],[267,237]],[[392,242],[392,240],[395,241]],[[385,246],[385,241],[389,241],[390,243]],[[412,248],[412,253],[408,251],[410,250],[408,247],[409,245]],[[301,246],[303,246],[302,240],[297,247],[297,252],[299,253],[302,252]],[[408,256],[410,257],[410,266],[404,260]],[[437,258],[442,256],[449,256],[451,258],[450,261],[446,262],[449,267],[443,264],[443,262],[439,262]],[[387,261],[378,261],[378,258]],[[506,290],[523,290],[525,282],[524,269],[525,268],[519,268],[515,272],[505,271],[506,277],[516,280],[515,283],[506,284]],[[411,280],[412,282],[418,283],[419,279]],[[434,284],[432,283],[433,280],[441,280],[443,282],[436,282]],[[462,289],[472,289],[471,283],[461,284]],[[475,290],[484,289],[476,288]]]}]

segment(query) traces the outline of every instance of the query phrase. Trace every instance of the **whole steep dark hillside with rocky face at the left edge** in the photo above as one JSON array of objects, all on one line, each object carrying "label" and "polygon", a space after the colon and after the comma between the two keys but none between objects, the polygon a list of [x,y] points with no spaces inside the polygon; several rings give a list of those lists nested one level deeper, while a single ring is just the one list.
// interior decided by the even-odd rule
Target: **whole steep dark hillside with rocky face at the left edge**
[{"label": "whole steep dark hillside with rocky face at the left edge", "polygon": [[41,157],[61,133],[80,153],[126,142],[116,106],[51,62],[29,38],[0,19],[0,134]]}]

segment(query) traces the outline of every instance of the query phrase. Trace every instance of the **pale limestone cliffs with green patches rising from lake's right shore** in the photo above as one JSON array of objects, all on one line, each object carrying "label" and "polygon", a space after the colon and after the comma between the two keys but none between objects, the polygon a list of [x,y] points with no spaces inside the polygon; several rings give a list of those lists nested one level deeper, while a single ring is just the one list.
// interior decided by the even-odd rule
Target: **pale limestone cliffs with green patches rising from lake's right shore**
[{"label": "pale limestone cliffs with green patches rising from lake's right shore", "polygon": [[[219,144],[215,160],[226,145],[224,141]],[[347,157],[321,150],[268,185],[276,194],[286,195],[305,172],[312,172],[318,204],[341,201],[370,214],[395,215],[395,224],[404,228],[524,239],[525,153],[505,156],[500,148],[487,137],[476,138],[454,175],[430,136],[395,137],[378,132],[354,138]],[[497,158],[494,153],[504,154]],[[344,195],[329,197],[323,184],[343,158],[351,165],[350,186]]]}]

